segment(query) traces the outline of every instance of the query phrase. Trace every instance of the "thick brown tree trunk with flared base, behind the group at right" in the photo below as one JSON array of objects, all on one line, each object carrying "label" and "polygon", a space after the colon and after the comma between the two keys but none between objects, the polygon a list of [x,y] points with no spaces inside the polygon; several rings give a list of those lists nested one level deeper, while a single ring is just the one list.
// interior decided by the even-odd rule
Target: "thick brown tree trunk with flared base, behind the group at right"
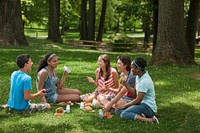
[{"label": "thick brown tree trunk with flared base, behind the group at right", "polygon": [[193,64],[194,60],[185,40],[184,1],[160,0],[158,22],[152,63]]}]

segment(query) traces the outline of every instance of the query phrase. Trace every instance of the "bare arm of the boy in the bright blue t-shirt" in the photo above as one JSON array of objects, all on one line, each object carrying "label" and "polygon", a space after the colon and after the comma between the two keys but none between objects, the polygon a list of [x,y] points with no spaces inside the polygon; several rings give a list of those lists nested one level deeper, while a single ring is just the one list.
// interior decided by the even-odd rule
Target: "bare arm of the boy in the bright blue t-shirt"
[{"label": "bare arm of the boy in the bright blue t-shirt", "polygon": [[46,94],[45,89],[42,89],[42,90],[38,91],[35,94],[31,94],[30,90],[24,90],[24,99],[25,100],[32,100],[32,99],[34,99],[34,98],[36,98],[38,96],[44,97],[45,94]]}]

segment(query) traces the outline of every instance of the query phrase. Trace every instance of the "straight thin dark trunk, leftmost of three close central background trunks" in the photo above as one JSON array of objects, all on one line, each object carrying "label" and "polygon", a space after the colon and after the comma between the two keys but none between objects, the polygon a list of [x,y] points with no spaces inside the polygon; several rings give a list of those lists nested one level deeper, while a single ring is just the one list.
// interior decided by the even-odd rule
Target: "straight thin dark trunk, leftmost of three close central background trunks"
[{"label": "straight thin dark trunk, leftmost of three close central background trunks", "polygon": [[87,0],[81,0],[81,40],[87,39]]}]

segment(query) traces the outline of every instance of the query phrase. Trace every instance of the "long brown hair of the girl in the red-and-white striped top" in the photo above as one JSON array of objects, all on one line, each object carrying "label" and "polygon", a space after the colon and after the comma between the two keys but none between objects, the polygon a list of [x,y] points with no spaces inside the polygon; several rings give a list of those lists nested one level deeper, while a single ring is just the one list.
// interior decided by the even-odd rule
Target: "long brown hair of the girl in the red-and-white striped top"
[{"label": "long brown hair of the girl in the red-and-white striped top", "polygon": [[[103,61],[104,63],[106,63],[106,77],[105,77],[105,81],[108,80],[109,76],[110,76],[110,58],[107,54],[102,54],[99,56]],[[101,76],[103,75],[103,71],[102,69],[100,69],[99,71],[99,79],[101,78]]]}]

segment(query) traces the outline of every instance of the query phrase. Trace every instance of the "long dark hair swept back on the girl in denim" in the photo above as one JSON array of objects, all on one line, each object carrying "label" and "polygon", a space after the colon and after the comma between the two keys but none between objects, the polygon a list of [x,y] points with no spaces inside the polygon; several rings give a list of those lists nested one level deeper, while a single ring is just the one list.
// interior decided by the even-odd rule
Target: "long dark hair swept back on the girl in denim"
[{"label": "long dark hair swept back on the girl in denim", "polygon": [[45,68],[48,65],[48,61],[50,61],[56,54],[49,52],[47,53],[44,58],[42,58],[39,63],[36,72],[38,73],[41,69]]}]

